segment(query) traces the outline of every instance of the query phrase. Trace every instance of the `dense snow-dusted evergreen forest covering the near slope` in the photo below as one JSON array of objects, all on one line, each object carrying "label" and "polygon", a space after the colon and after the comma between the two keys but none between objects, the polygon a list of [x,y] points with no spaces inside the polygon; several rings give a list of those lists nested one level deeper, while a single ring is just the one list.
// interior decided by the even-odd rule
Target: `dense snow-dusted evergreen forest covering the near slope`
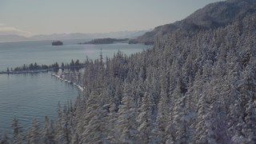
[{"label": "dense snow-dusted evergreen forest covering the near slope", "polygon": [[178,29],[139,54],[86,60],[83,94],[58,119],[14,118],[2,143],[255,143],[256,13]]}]

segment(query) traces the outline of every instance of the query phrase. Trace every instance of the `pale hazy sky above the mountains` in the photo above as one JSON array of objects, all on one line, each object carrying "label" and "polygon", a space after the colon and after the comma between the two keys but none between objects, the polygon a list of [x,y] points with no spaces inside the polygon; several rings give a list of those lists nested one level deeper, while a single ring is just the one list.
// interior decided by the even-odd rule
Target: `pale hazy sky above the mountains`
[{"label": "pale hazy sky above the mountains", "polygon": [[220,0],[0,0],[0,34],[148,30]]}]

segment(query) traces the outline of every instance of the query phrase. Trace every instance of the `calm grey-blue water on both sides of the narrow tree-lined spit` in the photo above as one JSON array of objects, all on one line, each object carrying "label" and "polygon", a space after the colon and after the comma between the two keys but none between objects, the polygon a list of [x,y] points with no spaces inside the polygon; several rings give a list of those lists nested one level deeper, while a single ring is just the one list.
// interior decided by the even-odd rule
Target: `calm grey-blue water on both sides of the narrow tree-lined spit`
[{"label": "calm grey-blue water on both sides of the narrow tree-lined spit", "polygon": [[[52,64],[79,59],[86,55],[91,59],[112,57],[121,50],[124,54],[134,54],[151,46],[111,44],[77,45],[81,40],[63,41],[64,46],[51,46],[50,41],[0,42],[0,71],[7,67],[22,66],[37,62]],[[22,126],[30,126],[32,118],[43,122],[44,116],[56,118],[58,102],[74,102],[79,90],[66,82],[51,77],[50,73],[40,74],[0,74],[0,133],[10,133],[11,122],[18,118]]]}]

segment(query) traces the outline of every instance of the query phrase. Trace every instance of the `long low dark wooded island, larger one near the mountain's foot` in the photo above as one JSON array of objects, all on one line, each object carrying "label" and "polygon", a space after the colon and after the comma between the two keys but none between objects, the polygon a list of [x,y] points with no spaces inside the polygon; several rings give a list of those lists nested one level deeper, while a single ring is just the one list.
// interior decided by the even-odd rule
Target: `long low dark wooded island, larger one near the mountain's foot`
[{"label": "long low dark wooded island, larger one near the mountain's foot", "polygon": [[128,43],[129,38],[123,38],[123,39],[117,39],[117,38],[98,38],[93,39],[90,42],[79,42],[78,45],[84,45],[84,44],[112,44],[114,42],[120,42],[120,43]]}]

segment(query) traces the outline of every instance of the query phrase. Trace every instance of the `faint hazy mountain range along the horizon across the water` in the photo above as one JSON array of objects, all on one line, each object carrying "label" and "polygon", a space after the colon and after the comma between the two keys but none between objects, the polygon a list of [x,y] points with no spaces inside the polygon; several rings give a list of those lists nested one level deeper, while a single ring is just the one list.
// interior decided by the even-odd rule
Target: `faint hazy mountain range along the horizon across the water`
[{"label": "faint hazy mountain range along the horizon across the water", "polygon": [[40,41],[40,40],[66,40],[66,39],[92,39],[92,38],[137,38],[150,30],[136,30],[136,31],[120,31],[110,33],[71,33],[71,34],[40,34],[31,37],[24,37],[20,35],[0,35],[0,42],[16,42],[16,41]]}]

